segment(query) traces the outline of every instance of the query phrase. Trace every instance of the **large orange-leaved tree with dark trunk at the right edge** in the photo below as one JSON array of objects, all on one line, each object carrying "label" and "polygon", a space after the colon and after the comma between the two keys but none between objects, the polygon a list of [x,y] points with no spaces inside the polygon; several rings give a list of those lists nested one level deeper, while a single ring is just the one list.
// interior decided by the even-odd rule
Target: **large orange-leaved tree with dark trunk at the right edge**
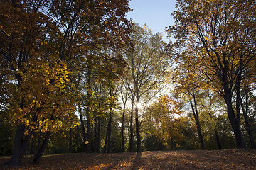
[{"label": "large orange-leaved tree with dark trunk at the right edge", "polygon": [[[183,57],[223,97],[238,148],[245,147],[240,130],[240,85],[255,61],[255,1],[178,0],[175,26],[169,33],[193,55]],[[246,74],[245,74],[246,73]],[[235,110],[233,99],[235,98]]]}]

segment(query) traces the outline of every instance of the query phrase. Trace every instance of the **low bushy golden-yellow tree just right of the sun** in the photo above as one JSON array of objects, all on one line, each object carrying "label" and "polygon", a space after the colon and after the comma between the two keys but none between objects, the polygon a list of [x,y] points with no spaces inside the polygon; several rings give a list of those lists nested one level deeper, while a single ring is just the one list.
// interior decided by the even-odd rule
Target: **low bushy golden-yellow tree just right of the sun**
[{"label": "low bushy golden-yellow tree just right of the sun", "polygon": [[153,122],[154,136],[159,137],[164,145],[171,143],[171,149],[176,148],[176,144],[185,140],[181,127],[186,123],[181,110],[182,103],[175,101],[169,96],[161,96],[151,104],[146,111],[146,118]]}]

